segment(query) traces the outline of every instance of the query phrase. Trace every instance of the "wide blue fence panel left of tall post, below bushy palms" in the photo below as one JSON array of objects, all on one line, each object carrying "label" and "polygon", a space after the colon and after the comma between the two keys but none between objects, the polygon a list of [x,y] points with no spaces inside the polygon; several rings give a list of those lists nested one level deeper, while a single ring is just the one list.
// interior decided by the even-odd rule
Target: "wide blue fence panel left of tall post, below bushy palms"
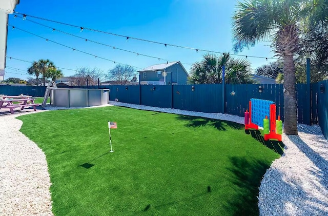
[{"label": "wide blue fence panel left of tall post, below bushy palms", "polygon": [[173,108],[222,112],[222,84],[173,86]]}]

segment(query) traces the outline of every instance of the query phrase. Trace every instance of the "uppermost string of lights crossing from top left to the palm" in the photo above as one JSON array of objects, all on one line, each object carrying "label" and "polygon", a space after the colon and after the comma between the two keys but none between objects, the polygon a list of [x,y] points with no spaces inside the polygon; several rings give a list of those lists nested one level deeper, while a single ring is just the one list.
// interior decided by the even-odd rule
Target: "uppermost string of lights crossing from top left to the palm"
[{"label": "uppermost string of lights crossing from top left to the palm", "polygon": [[[15,14],[22,14],[19,12],[14,12]],[[203,51],[203,52],[212,52],[212,53],[218,53],[218,54],[223,54],[223,52],[218,52],[218,51],[212,51],[212,50],[205,50],[205,49],[198,49],[198,48],[192,48],[192,47],[185,47],[185,46],[180,46],[180,45],[174,45],[174,44],[167,44],[167,43],[160,43],[160,42],[156,42],[156,41],[150,41],[150,40],[146,40],[144,38],[138,38],[138,37],[130,37],[130,36],[126,36],[126,35],[121,35],[121,34],[116,34],[116,33],[112,33],[112,32],[106,32],[106,31],[101,31],[101,30],[97,30],[97,29],[92,29],[92,28],[86,28],[86,27],[79,27],[79,26],[75,26],[72,24],[68,24],[68,23],[63,23],[63,22],[58,22],[58,21],[53,21],[51,19],[47,19],[47,18],[43,18],[43,17],[37,17],[37,16],[32,16],[32,15],[27,15],[26,16],[30,16],[32,18],[36,18],[36,19],[42,19],[44,21],[48,21],[48,22],[53,22],[53,23],[57,23],[57,24],[61,24],[61,25],[67,25],[67,26],[71,26],[71,27],[76,27],[76,28],[81,28],[81,30],[83,29],[88,29],[90,31],[95,31],[95,32],[99,32],[99,33],[104,33],[104,34],[111,34],[111,35],[115,35],[115,36],[119,36],[119,37],[125,37],[128,39],[134,39],[134,40],[138,40],[138,41],[144,41],[144,42],[148,42],[148,43],[154,43],[154,44],[161,44],[161,45],[167,45],[167,46],[172,46],[172,47],[178,47],[178,48],[183,48],[183,49],[191,49],[191,50],[198,50],[198,51]],[[240,54],[230,54],[230,55],[236,55],[236,56],[244,56],[245,55],[240,55]],[[254,58],[266,58],[266,57],[261,57],[261,56],[251,56],[249,55],[248,57],[254,57]],[[269,59],[269,57],[267,57]],[[274,57],[270,57],[270,59],[277,59]]]}]

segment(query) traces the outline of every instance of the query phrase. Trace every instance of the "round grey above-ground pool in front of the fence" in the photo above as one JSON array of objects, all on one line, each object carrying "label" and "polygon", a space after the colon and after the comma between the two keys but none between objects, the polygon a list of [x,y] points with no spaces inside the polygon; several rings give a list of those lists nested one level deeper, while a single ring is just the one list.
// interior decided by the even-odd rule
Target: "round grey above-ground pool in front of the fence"
[{"label": "round grey above-ground pool in front of the fence", "polygon": [[108,104],[109,89],[52,88],[50,105],[56,107],[91,107]]}]

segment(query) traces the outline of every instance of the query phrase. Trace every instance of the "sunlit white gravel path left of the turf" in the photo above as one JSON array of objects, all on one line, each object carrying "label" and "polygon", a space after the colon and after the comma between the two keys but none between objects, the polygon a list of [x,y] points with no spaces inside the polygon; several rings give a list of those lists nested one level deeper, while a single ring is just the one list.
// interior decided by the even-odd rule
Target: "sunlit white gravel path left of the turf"
[{"label": "sunlit white gravel path left of the turf", "polygon": [[31,110],[0,116],[0,215],[53,215],[46,156],[15,119]]}]

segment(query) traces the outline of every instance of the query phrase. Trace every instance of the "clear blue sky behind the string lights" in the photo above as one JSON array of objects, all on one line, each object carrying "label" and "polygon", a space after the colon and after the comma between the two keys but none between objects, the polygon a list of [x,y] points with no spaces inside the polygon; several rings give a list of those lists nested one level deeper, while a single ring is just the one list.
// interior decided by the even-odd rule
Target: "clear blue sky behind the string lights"
[{"label": "clear blue sky behind the string lights", "polygon": [[[86,1],[86,0],[21,0],[15,11],[28,15],[44,17],[55,21],[69,23],[113,32],[131,37],[144,38],[167,44],[231,52],[233,48],[232,15],[237,1],[224,0],[140,0],[140,1]],[[27,19],[42,23],[52,28],[66,31],[81,37],[117,48],[165,58],[170,61],[194,63],[201,60],[204,52],[165,47],[136,40],[128,40],[109,34],[96,33],[79,28],[59,25],[27,16]],[[55,42],[85,51],[115,62],[125,63],[138,68],[146,68],[153,64],[164,63],[155,58],[137,56],[133,53],[119,51],[110,47],[85,42],[58,31],[52,31],[27,20],[9,15],[9,24],[21,28]],[[263,42],[238,54],[273,57],[274,53]],[[7,56],[27,61],[49,58],[57,67],[76,69],[79,67],[97,67],[104,72],[114,67],[114,63],[101,60],[94,56],[73,51],[72,49],[53,44],[36,36],[12,30],[8,27]],[[236,56],[237,57],[237,56]],[[248,57],[255,69],[273,60]],[[26,70],[31,64],[10,60],[6,66]],[[183,64],[189,72],[189,64]],[[26,78],[24,71],[6,69],[6,77]],[[11,73],[10,73],[11,72]],[[14,74],[18,73],[18,74]],[[20,74],[23,73],[23,74]],[[73,75],[74,71],[63,69],[65,76]]]}]

